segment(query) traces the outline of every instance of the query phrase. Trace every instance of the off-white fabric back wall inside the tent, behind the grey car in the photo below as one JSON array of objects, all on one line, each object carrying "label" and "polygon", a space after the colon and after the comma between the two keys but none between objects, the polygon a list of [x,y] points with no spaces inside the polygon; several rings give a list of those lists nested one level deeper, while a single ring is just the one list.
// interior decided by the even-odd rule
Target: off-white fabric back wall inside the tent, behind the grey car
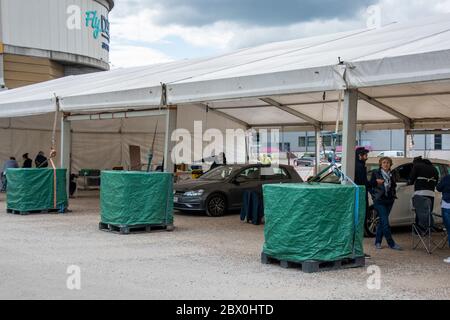
[{"label": "off-white fabric back wall inside the tent, behind the grey car", "polygon": [[[5,160],[15,156],[21,161],[22,154],[29,153],[34,158],[39,151],[49,153],[51,147],[54,114],[38,117],[0,119],[0,169]],[[226,129],[243,128],[235,122],[197,106],[178,108],[178,128],[191,132],[194,121],[202,121],[204,130],[209,128]],[[153,143],[157,128],[153,165],[161,164],[164,155],[165,117],[144,117],[122,120],[74,121],[72,122],[72,172],[82,168],[111,169],[115,166],[129,168],[129,146],[141,147],[141,162],[147,163],[148,152]],[[57,149],[60,151],[59,121]],[[193,140],[193,139],[192,139]],[[201,143],[201,142],[200,142]],[[204,143],[206,145],[206,143]],[[237,150],[241,154],[244,150]],[[231,150],[227,158],[232,159]],[[59,154],[57,158],[59,164]]]}]

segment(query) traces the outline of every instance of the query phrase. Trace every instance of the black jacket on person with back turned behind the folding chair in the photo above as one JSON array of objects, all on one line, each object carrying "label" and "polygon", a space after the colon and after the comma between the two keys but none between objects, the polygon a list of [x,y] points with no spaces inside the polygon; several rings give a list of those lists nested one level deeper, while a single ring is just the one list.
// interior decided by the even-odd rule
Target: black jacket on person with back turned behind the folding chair
[{"label": "black jacket on person with back turned behind the folding chair", "polygon": [[414,191],[435,191],[439,181],[439,172],[433,164],[425,159],[414,164],[408,184],[414,184]]}]

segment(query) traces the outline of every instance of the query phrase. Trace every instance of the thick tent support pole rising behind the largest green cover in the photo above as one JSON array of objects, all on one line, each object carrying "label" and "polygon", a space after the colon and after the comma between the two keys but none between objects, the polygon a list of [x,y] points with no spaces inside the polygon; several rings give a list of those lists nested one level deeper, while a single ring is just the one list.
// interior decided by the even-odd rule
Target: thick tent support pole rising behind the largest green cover
[{"label": "thick tent support pole rising behind the largest green cover", "polygon": [[344,126],[342,132],[342,170],[350,179],[355,178],[357,113],[358,91],[354,89],[346,90],[344,97]]}]

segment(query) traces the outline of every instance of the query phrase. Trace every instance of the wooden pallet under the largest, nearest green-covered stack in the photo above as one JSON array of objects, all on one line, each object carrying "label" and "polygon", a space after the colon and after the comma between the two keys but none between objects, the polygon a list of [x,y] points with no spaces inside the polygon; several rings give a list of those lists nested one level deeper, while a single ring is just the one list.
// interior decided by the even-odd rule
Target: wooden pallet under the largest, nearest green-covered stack
[{"label": "wooden pallet under the largest, nearest green-covered stack", "polygon": [[366,265],[365,257],[357,257],[354,259],[341,259],[337,261],[303,261],[303,262],[291,262],[278,260],[270,257],[264,252],[261,254],[261,262],[263,264],[275,264],[279,263],[280,267],[285,269],[301,269],[305,273],[316,273],[322,271],[332,271],[340,269],[350,268],[362,268]]}]

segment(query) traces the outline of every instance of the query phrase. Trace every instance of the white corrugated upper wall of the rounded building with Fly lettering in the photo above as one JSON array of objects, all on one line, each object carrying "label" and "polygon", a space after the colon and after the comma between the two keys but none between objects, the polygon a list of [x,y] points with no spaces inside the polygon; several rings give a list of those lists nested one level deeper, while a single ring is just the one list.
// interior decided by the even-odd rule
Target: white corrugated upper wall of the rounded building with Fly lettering
[{"label": "white corrugated upper wall of the rounded building with Fly lettering", "polygon": [[[3,43],[83,55],[109,62],[101,35],[86,26],[86,11],[108,16],[108,10],[93,0],[0,0]],[[70,5],[81,8],[81,29],[67,27]],[[0,28],[1,30],[1,28]]]}]

